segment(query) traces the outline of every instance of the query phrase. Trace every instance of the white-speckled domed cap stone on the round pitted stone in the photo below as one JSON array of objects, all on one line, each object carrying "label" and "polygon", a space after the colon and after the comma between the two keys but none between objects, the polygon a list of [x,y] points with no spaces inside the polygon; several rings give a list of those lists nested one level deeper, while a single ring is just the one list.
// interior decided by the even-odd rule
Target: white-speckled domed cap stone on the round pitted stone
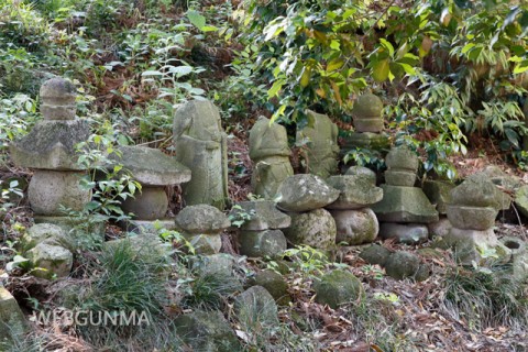
[{"label": "white-speckled domed cap stone on the round pitted stone", "polygon": [[277,206],[285,211],[309,211],[332,204],[339,194],[320,177],[299,174],[286,178],[280,185]]}]

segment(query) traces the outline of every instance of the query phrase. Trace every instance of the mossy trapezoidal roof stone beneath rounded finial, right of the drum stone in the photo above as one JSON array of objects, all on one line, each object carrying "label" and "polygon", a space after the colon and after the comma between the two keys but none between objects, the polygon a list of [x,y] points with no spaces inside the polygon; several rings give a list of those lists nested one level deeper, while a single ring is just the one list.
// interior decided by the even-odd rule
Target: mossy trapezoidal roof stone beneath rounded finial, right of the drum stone
[{"label": "mossy trapezoidal roof stone beneath rounded finial, right of the drum stone", "polygon": [[421,188],[382,185],[383,199],[372,206],[380,222],[438,221],[438,212]]}]

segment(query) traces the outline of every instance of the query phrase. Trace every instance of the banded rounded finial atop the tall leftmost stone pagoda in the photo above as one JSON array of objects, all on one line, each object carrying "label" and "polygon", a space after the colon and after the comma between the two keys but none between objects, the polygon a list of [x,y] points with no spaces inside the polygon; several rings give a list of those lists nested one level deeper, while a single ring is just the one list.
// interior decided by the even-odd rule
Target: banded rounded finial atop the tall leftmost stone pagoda
[{"label": "banded rounded finial atop the tall leftmost stone pagoda", "polygon": [[52,78],[41,86],[41,112],[45,120],[74,120],[77,90],[64,78]]}]

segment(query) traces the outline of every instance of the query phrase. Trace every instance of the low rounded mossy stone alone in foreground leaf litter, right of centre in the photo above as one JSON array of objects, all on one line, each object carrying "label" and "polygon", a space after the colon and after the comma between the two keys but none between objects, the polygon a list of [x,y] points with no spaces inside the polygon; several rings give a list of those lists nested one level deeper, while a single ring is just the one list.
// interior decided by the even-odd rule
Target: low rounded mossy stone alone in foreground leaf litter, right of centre
[{"label": "low rounded mossy stone alone in foreground leaf litter, right of centre", "polygon": [[344,271],[332,271],[314,282],[316,301],[336,309],[339,306],[359,301],[365,295],[358,277]]}]

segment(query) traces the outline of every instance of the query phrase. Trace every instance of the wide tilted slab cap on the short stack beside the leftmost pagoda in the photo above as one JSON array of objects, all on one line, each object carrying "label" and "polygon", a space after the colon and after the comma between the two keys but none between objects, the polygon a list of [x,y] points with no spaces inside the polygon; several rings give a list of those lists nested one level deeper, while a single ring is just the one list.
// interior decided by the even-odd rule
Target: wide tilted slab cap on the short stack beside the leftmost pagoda
[{"label": "wide tilted slab cap on the short stack beside the leftmost pagoda", "polygon": [[190,180],[190,169],[175,157],[145,146],[120,146],[121,155],[112,154],[116,164],[130,170],[144,186],[179,185]]}]

